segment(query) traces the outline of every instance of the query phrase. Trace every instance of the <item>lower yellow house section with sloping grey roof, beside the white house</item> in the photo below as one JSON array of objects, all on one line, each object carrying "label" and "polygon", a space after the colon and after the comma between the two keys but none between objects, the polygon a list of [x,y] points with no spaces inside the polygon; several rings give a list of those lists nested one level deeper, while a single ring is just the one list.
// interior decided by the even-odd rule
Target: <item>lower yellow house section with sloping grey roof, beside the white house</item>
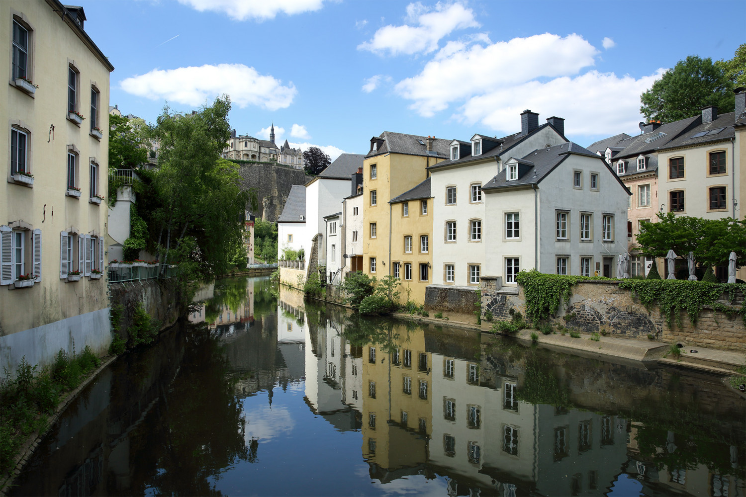
[{"label": "lower yellow house section with sloping grey roof, beside the white house", "polygon": [[424,303],[433,282],[433,198],[430,178],[391,202],[391,273],[401,279],[399,301]]}]

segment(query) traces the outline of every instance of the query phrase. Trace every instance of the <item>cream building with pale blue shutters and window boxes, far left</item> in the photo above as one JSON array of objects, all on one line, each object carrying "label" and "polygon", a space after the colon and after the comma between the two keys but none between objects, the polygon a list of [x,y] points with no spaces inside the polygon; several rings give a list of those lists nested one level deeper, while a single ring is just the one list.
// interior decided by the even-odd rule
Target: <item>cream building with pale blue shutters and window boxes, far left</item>
[{"label": "cream building with pale blue shutters and window boxes, far left", "polygon": [[0,3],[7,140],[0,187],[0,366],[111,341],[105,274],[109,73],[83,8]]}]

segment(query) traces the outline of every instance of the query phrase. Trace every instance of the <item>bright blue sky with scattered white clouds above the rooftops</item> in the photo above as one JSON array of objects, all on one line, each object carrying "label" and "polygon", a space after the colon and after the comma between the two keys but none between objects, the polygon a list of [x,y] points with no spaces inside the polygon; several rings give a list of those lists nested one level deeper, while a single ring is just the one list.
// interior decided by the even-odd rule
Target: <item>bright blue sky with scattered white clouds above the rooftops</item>
[{"label": "bright blue sky with scattered white clouds above the rooftops", "polygon": [[384,130],[504,136],[565,118],[639,133],[639,94],[689,54],[733,57],[744,1],[82,1],[110,104],[154,121],[231,95],[231,127],[366,153]]}]

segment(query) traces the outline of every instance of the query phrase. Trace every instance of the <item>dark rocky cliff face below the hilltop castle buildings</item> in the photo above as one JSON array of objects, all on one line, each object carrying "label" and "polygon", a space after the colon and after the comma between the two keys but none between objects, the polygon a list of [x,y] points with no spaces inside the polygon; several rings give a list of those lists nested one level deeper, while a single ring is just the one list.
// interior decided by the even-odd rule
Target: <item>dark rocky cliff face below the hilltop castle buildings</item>
[{"label": "dark rocky cliff face below the hilltop castle buildings", "polygon": [[233,161],[240,165],[242,187],[257,189],[259,212],[264,221],[277,221],[293,185],[305,185],[313,177],[302,169],[278,165],[275,162]]}]

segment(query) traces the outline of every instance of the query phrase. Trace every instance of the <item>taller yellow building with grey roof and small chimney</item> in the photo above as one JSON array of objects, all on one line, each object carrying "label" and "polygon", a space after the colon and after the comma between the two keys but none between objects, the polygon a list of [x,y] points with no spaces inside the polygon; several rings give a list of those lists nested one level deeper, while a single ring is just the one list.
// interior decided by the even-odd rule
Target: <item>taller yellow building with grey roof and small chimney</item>
[{"label": "taller yellow building with grey roof and small chimney", "polygon": [[[389,200],[414,189],[426,180],[427,167],[448,159],[449,143],[450,140],[389,131],[384,131],[380,136],[371,139],[370,151],[363,160],[365,273],[379,279],[394,274],[392,262],[402,260],[398,256],[398,240],[401,240],[401,233],[392,233],[389,221],[397,213],[391,210],[394,205],[389,204]],[[401,208],[400,204],[396,206]],[[431,207],[431,204],[425,207],[428,210],[424,215],[432,217]],[[422,212],[421,206],[418,205],[416,209]],[[414,270],[416,268],[413,268]],[[427,276],[430,279],[429,271]],[[419,277],[419,274],[413,274],[413,277]],[[424,301],[424,291],[422,295],[423,299],[420,302]],[[406,300],[406,297],[403,298]]]}]

